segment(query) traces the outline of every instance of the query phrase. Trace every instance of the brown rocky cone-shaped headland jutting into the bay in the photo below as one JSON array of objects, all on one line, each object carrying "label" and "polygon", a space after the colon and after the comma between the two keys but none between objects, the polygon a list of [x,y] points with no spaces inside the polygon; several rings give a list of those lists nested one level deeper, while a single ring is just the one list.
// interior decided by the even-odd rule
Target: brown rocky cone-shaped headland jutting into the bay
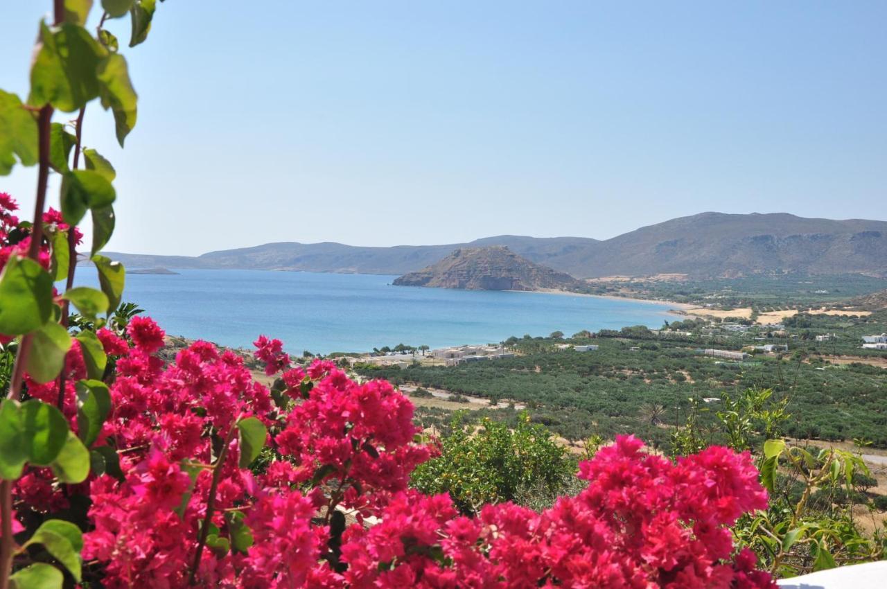
[{"label": "brown rocky cone-shaped headland jutting into the bay", "polygon": [[438,263],[404,274],[398,287],[467,290],[574,290],[581,282],[569,274],[532,263],[507,247],[463,247]]}]

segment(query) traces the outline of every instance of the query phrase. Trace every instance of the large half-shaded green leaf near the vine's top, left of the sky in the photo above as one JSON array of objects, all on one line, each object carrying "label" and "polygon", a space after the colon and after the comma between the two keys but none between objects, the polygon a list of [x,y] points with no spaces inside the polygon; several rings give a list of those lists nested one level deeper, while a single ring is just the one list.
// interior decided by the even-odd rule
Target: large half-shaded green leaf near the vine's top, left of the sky
[{"label": "large half-shaded green leaf near the vine's top, left of the sky", "polygon": [[28,104],[49,103],[73,113],[98,97],[96,73],[107,51],[86,29],[71,23],[50,29],[41,23],[40,37],[43,43],[38,45],[40,50],[31,67]]}]

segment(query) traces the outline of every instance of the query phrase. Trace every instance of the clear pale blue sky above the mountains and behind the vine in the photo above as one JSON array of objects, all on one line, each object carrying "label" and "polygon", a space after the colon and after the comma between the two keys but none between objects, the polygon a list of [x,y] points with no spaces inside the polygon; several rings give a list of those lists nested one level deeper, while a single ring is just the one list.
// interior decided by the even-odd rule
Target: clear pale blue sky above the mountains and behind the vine
[{"label": "clear pale blue sky above the mountains and behind the vine", "polygon": [[[4,2],[0,88],[27,91],[44,4]],[[126,149],[96,103],[84,142],[118,170],[118,251],[887,219],[885,22],[883,0],[167,0],[124,49]],[[0,191],[30,206],[34,178]]]}]

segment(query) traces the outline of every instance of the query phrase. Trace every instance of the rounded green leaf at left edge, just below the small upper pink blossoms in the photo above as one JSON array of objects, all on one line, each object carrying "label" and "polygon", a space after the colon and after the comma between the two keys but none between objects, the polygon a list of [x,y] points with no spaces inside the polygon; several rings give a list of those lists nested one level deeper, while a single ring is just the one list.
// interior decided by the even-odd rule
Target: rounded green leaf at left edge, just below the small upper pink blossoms
[{"label": "rounded green leaf at left edge, just below the small upper pink blossoms", "polygon": [[29,258],[12,255],[0,273],[0,334],[21,335],[52,316],[52,277]]}]

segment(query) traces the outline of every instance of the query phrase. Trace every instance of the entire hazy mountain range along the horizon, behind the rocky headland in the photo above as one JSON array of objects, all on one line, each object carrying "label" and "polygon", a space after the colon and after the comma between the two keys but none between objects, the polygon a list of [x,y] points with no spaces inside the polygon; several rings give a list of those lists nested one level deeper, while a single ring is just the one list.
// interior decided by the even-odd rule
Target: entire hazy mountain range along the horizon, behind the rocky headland
[{"label": "entire hazy mountain range along the horizon, behind the rocky headland", "polygon": [[610,240],[514,235],[440,246],[358,247],[324,242],[268,243],[196,257],[108,252],[130,268],[232,268],[405,274],[462,247],[506,246],[514,254],[577,278],[683,273],[864,273],[887,277],[887,222],[810,219],[787,213],[702,213],[641,227]]}]

